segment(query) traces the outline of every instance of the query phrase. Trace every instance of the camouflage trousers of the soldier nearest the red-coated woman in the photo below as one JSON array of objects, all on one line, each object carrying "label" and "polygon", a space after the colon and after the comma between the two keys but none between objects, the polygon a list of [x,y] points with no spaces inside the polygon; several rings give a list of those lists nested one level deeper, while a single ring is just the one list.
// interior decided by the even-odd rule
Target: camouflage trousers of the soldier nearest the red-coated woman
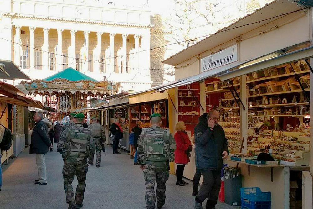
[{"label": "camouflage trousers of the soldier nearest the red-coated woman", "polygon": [[[169,165],[165,161],[147,161],[143,169],[143,176],[146,181],[146,207],[154,209],[157,197],[157,206],[161,207],[165,203],[166,181],[169,177]],[[156,196],[154,193],[154,185],[156,187]]]}]

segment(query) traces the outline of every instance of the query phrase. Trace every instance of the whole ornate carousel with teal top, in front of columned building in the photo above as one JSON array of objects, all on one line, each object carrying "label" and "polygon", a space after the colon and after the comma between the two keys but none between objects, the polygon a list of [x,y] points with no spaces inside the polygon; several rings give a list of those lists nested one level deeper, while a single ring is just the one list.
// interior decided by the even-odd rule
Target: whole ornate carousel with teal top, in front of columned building
[{"label": "whole ornate carousel with teal top, in front of columned building", "polygon": [[22,81],[29,95],[40,95],[46,106],[54,107],[61,118],[69,112],[87,112],[89,100],[115,95],[119,83],[97,81],[73,68],[67,68],[43,80]]}]

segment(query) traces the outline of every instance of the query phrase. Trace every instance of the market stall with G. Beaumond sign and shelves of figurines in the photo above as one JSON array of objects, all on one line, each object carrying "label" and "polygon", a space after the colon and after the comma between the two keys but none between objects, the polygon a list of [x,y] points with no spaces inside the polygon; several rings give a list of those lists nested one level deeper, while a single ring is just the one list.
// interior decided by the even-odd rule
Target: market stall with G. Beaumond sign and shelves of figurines
[{"label": "market stall with G. Beaumond sign and shelves of figurines", "polygon": [[[192,122],[187,117],[194,116],[187,116],[190,107],[185,106],[192,95],[190,89],[197,89],[193,86],[198,83],[200,104],[192,108],[199,114],[213,107],[219,110],[229,149],[240,160],[229,158],[225,163],[239,163],[243,187],[270,191],[272,208],[296,208],[307,200],[312,202],[312,191],[305,190],[312,188],[307,173],[313,156],[311,28],[311,8],[273,1],[164,60],[176,66],[177,82],[156,90],[175,88],[176,122]],[[182,86],[190,92],[184,93]],[[197,110],[192,114],[198,114]],[[269,162],[271,165],[254,161],[253,156],[262,152],[276,161]],[[193,166],[192,162],[186,166],[185,177],[192,179]],[[290,188],[295,181],[297,188]],[[306,192],[295,198],[290,195],[295,190],[297,194]]]}]

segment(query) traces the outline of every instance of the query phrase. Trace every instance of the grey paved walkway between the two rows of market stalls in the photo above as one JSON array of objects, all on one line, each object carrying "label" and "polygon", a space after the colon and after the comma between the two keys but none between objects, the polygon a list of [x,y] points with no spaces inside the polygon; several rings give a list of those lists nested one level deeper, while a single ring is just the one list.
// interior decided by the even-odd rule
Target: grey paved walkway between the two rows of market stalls
[{"label": "grey paved walkway between the two rows of market stalls", "polygon": [[[56,146],[54,144],[54,150]],[[84,209],[127,208],[145,209],[145,185],[139,166],[134,166],[126,153],[113,155],[111,147],[102,153],[101,167],[89,166],[86,180]],[[5,209],[58,208],[67,209],[63,185],[63,160],[56,151],[46,154],[48,185],[35,186],[38,178],[35,154],[29,149],[9,165],[3,165],[3,186],[0,192],[0,206]],[[167,181],[167,199],[164,209],[193,208],[192,182],[181,187],[175,185],[176,176]],[[74,189],[77,185],[75,178]],[[218,209],[233,208],[218,204]]]}]

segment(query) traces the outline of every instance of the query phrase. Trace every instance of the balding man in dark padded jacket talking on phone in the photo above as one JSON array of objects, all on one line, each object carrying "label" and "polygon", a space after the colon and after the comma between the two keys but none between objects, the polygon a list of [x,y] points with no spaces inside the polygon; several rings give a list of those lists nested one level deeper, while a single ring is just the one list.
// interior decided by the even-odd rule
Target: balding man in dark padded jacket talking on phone
[{"label": "balding man in dark padded jacket talking on phone", "polygon": [[213,209],[218,200],[223,159],[229,154],[225,133],[222,126],[218,125],[218,120],[219,112],[213,109],[199,117],[199,123],[194,129],[196,167],[203,176],[194,209],[202,209],[202,202],[206,198],[206,209]]}]

